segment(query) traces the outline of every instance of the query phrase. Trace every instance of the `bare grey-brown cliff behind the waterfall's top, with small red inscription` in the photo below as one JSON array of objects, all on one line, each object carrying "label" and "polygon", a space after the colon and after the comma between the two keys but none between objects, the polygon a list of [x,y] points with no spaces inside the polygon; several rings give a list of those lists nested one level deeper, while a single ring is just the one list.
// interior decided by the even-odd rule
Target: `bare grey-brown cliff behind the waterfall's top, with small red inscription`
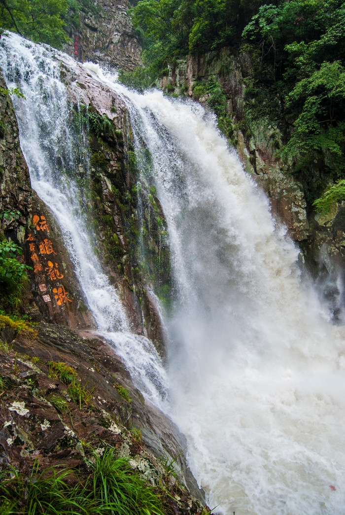
[{"label": "bare grey-brown cliff behind the waterfall's top, with small red inscription", "polygon": [[127,14],[127,0],[98,0],[80,11],[79,27],[71,30],[73,43],[65,52],[81,62],[133,70],[140,64],[141,46]]}]

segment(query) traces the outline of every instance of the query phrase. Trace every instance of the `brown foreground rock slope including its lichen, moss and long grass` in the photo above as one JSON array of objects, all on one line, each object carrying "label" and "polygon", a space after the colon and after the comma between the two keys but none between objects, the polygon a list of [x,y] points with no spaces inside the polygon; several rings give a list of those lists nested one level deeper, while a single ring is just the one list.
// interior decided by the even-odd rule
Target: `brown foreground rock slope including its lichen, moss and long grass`
[{"label": "brown foreground rock slope including its lichen, moss and long grass", "polygon": [[[92,393],[81,401],[73,385]],[[153,413],[106,342],[0,316],[0,396],[2,514],[208,512],[180,456],[146,449]]]}]

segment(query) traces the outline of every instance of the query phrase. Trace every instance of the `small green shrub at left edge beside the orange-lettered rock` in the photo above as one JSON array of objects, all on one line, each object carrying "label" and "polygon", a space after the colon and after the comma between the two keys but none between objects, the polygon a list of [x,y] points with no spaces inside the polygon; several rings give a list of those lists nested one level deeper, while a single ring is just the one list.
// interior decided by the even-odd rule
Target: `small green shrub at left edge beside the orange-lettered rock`
[{"label": "small green shrub at left edge beside the orange-lettered rock", "polygon": [[[7,219],[13,216],[13,213],[6,212],[5,214],[8,216]],[[28,282],[27,271],[32,270],[30,266],[24,265],[16,259],[17,255],[22,254],[23,251],[19,245],[8,242],[6,239],[0,242],[0,291],[3,294],[4,302],[10,308],[17,308],[20,304],[24,285]]]}]

